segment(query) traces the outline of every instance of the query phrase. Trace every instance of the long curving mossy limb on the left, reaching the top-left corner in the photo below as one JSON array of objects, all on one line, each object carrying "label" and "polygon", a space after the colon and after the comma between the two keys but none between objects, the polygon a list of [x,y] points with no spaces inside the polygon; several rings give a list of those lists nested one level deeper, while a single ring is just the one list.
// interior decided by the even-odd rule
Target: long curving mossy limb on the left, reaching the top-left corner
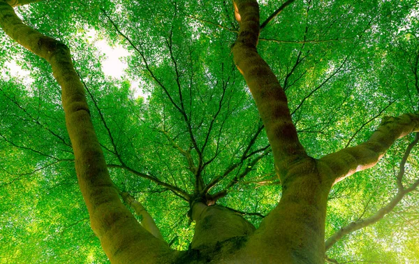
[{"label": "long curving mossy limb on the left, reaching the top-left corner", "polygon": [[[13,4],[29,1],[14,1]],[[119,200],[94,132],[84,87],[73,68],[68,47],[23,24],[6,0],[0,0],[0,25],[10,38],[47,60],[62,89],[66,126],[75,170],[91,228],[112,263],[158,263],[171,253],[165,242],[142,228]]]}]

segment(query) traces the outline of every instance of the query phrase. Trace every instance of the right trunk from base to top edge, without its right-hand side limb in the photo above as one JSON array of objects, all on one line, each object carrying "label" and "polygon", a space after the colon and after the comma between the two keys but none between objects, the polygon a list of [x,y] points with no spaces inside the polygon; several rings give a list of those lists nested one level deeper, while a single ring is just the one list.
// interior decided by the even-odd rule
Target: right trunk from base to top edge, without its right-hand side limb
[{"label": "right trunk from base to top edge, without its right-hand side limb", "polygon": [[[256,0],[235,0],[240,31],[234,61],[249,86],[274,154],[283,193],[279,205],[249,238],[249,259],[262,263],[322,263],[325,214],[332,182],[318,170],[297,138],[286,94],[256,50],[259,9]],[[261,254],[261,252],[263,252]]]}]

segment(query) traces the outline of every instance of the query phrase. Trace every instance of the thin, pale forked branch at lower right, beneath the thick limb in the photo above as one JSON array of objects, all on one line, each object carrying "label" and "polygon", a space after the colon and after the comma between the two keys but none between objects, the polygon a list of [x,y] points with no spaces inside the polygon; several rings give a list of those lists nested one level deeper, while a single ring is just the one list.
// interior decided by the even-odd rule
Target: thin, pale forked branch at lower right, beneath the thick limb
[{"label": "thin, pale forked branch at lower right, beneath the thick limb", "polygon": [[378,212],[373,214],[371,217],[354,221],[352,223],[349,223],[348,226],[340,228],[335,234],[333,234],[332,236],[328,238],[328,240],[326,240],[325,242],[326,250],[330,249],[330,247],[332,247],[338,240],[340,240],[341,237],[344,237],[344,235],[348,235],[349,233],[352,233],[355,230],[364,228],[365,226],[372,225],[373,223],[376,223],[377,221],[385,217],[385,215],[391,212],[407,193],[410,193],[411,191],[415,190],[419,186],[419,178],[416,180],[416,182],[413,182],[413,184],[411,184],[409,188],[404,189],[403,184],[402,184],[402,178],[404,175],[404,166],[406,164],[406,161],[409,157],[411,150],[416,144],[418,144],[418,141],[419,141],[419,133],[416,133],[415,140],[413,140],[413,142],[409,144],[409,146],[406,149],[406,152],[404,152],[402,162],[400,163],[400,166],[399,166],[399,173],[397,175],[398,191],[397,191],[396,196],[393,197],[392,200],[390,200],[390,203],[388,203],[387,205],[385,205],[385,207],[378,210]]}]

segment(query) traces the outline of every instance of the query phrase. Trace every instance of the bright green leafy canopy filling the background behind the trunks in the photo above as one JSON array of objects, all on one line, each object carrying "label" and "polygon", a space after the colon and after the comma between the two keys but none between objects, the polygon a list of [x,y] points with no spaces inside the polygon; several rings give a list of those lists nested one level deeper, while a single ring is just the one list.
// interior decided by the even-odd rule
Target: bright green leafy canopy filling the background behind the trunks
[{"label": "bright green leafy canopy filling the background behind the trunks", "polygon": [[[260,1],[261,20],[279,6]],[[253,156],[241,161],[261,122],[230,54],[237,32],[230,1],[50,0],[17,10],[70,47],[107,163],[131,168],[110,166],[112,179],[142,202],[172,248],[191,242],[189,204],[133,170],[193,194],[191,164],[178,147],[195,166],[197,147],[204,149],[205,183],[239,164],[210,193],[233,180],[217,203],[256,226],[277,204],[281,186],[264,131],[247,152]],[[363,142],[383,116],[418,111],[418,17],[416,0],[304,0],[261,31],[258,50],[286,90],[309,155]],[[128,50],[121,78],[103,73],[100,40]],[[20,77],[13,61],[25,70]],[[89,227],[49,66],[0,33],[0,68],[0,263],[107,263]],[[395,196],[395,174],[412,138],[333,187],[326,238]],[[406,164],[406,186],[418,179],[418,154],[413,149]],[[419,261],[418,208],[416,191],[375,225],[343,237],[328,256]]]}]

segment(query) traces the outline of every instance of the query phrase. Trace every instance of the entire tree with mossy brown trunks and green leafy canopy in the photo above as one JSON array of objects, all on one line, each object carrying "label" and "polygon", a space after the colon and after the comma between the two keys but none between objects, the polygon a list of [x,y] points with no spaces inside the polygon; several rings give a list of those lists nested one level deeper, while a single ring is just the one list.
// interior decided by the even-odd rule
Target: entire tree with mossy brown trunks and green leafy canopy
[{"label": "entire tree with mossy brown trunks and green leafy canopy", "polygon": [[[20,9],[25,24],[13,6],[29,2],[0,1],[6,35],[45,59],[21,55],[33,72],[31,88],[1,81],[7,157],[1,189],[13,191],[3,212],[33,207],[15,196],[19,190],[38,199],[35,191],[53,189],[36,206],[45,215],[39,218],[59,200],[73,212],[52,215],[76,219],[64,225],[28,218],[28,232],[42,233],[48,223],[63,233],[86,219],[71,193],[74,165],[91,229],[112,263],[337,263],[329,255],[351,257],[342,245],[330,249],[342,237],[396,206],[417,206],[409,196],[419,184],[411,158],[418,154],[411,133],[419,131],[419,116],[409,113],[417,111],[419,94],[415,1],[288,0],[263,2],[260,9],[253,0],[235,0],[233,8],[226,1],[41,1]],[[129,80],[105,78],[100,55],[83,38],[89,28],[133,52],[128,72],[147,99],[133,98]],[[4,64],[20,47],[3,43]],[[391,117],[378,122],[384,113]],[[386,162],[376,166],[384,155]],[[345,201],[338,198],[355,192],[354,185],[360,193],[351,203],[364,208],[355,210],[358,219],[342,221],[337,214],[345,212]],[[337,219],[327,217],[328,200]],[[159,207],[179,208],[165,216]],[[406,218],[409,210],[402,210],[397,214]],[[191,225],[186,211],[194,233],[189,249],[179,251],[174,245],[181,249],[189,240],[182,235]],[[4,218],[10,232],[4,236],[22,236],[10,214]],[[418,221],[402,220],[397,224]],[[80,237],[72,232],[68,239]],[[395,263],[418,257],[409,243],[419,238],[409,237],[402,256],[384,257]],[[64,259],[54,247],[42,247],[50,251],[35,255],[39,261]],[[367,258],[374,257],[369,247],[359,247]],[[34,261],[17,248],[8,244],[6,261]],[[83,250],[84,258],[95,255]]]}]

